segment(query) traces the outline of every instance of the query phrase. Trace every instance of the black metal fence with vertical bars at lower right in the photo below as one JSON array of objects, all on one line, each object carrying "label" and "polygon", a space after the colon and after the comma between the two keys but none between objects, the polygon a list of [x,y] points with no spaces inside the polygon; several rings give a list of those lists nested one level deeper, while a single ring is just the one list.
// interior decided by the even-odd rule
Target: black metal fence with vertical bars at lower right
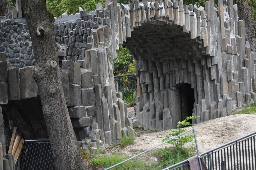
[{"label": "black metal fence with vertical bars at lower right", "polygon": [[[228,142],[210,151],[200,154],[209,170],[256,170],[256,131],[239,139]],[[188,161],[184,160],[170,169],[189,170]]]}]

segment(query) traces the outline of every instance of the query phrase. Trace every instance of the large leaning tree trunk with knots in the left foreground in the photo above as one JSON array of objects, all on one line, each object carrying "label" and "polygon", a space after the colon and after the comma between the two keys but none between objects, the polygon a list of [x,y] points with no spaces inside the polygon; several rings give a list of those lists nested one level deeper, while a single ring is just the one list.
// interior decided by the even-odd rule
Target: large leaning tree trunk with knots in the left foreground
[{"label": "large leaning tree trunk with knots in the left foreground", "polygon": [[71,124],[59,74],[57,46],[53,35],[54,18],[45,0],[22,0],[31,35],[35,79],[53,151],[55,169],[87,169]]}]

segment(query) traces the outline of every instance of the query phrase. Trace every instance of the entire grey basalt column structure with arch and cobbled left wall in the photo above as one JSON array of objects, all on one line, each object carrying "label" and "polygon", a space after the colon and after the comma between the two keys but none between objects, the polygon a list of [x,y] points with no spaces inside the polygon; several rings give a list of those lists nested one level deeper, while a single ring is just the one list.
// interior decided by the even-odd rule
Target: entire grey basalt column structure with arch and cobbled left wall
[{"label": "entire grey basalt column structure with arch and cobbled left wall", "polygon": [[[107,0],[93,13],[80,9],[56,19],[53,29],[66,103],[86,151],[120,143],[121,134],[133,136],[133,125],[171,129],[186,116],[199,116],[193,122],[199,123],[256,100],[254,56],[232,0],[219,1],[218,10],[213,0],[205,7],[182,0]],[[119,45],[136,61],[132,119],[114,82]],[[4,127],[7,146],[14,126],[24,139],[47,138],[34,64],[26,21],[0,19],[0,133]]]}]

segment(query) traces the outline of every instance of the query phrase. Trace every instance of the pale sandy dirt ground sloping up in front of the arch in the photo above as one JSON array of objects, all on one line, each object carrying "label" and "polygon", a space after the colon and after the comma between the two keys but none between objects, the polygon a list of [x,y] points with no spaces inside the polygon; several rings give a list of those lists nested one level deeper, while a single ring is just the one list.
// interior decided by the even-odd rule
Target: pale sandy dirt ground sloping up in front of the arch
[{"label": "pale sandy dirt ground sloping up in front of the arch", "polygon": [[[226,116],[195,125],[200,153],[230,142],[256,131],[256,113]],[[190,129],[190,128],[186,128]],[[135,155],[162,143],[161,138],[170,131],[148,132],[136,129],[134,143],[120,148],[113,148],[126,155]],[[168,146],[170,144],[166,144]],[[107,151],[112,152],[111,150]]]}]

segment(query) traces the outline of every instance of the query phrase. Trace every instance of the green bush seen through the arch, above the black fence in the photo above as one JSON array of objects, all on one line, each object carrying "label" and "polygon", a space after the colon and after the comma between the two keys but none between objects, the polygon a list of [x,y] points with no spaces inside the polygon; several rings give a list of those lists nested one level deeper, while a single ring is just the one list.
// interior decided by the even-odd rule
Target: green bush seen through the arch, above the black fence
[{"label": "green bush seen through the arch, above the black fence", "polygon": [[129,50],[120,45],[119,51],[117,51],[117,58],[114,59],[114,75],[126,73],[131,63],[134,62],[133,57],[129,54]]}]

